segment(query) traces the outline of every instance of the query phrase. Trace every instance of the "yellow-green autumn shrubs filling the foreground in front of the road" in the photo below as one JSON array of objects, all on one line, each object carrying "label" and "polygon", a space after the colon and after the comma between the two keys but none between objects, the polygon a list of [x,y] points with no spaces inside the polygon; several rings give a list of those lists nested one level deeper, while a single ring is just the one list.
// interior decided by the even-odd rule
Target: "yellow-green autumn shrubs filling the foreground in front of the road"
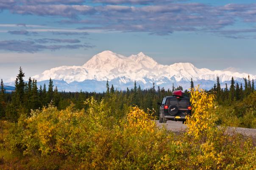
[{"label": "yellow-green autumn shrubs filling the foreground in front of the road", "polygon": [[[151,111],[93,97],[86,110],[32,111],[0,130],[0,169],[255,169],[252,141],[215,127],[214,96],[199,88],[191,95],[193,114],[180,134],[157,127]],[[6,159],[6,151],[20,156]]]}]

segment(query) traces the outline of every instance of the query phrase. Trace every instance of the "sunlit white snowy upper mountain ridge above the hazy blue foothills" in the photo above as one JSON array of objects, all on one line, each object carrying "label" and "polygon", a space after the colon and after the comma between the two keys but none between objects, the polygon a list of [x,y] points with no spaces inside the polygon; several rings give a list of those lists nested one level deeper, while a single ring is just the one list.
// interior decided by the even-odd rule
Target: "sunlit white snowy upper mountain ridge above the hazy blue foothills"
[{"label": "sunlit white snowy upper mountain ridge above the hazy blue foothills", "polygon": [[191,78],[197,80],[216,81],[217,76],[220,81],[229,81],[233,76],[235,80],[241,81],[250,75],[255,79],[256,76],[247,73],[231,72],[229,70],[209,70],[207,68],[197,68],[192,63],[178,62],[171,65],[161,65],[153,58],[140,52],[125,57],[112,51],[102,51],[94,55],[82,66],[61,66],[33,76],[38,81],[64,80],[67,83],[73,81],[82,82],[85,80],[106,81],[119,77],[125,77],[132,81],[142,81],[149,78],[152,81],[159,82],[160,79],[167,78],[169,81],[190,81]]}]

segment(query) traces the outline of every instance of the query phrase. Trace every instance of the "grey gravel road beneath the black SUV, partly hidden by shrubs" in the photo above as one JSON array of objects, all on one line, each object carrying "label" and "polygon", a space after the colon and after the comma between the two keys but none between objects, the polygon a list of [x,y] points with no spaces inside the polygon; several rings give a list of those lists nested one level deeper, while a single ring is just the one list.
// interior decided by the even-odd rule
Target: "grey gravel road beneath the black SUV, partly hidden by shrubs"
[{"label": "grey gravel road beneath the black SUV, partly hidden by shrubs", "polygon": [[[159,123],[159,121],[156,121],[157,126],[163,127],[166,126],[167,130],[171,130],[173,132],[181,132],[186,131],[186,125],[182,124],[182,121],[167,121],[167,123]],[[218,128],[221,128],[218,126]],[[251,136],[253,138],[256,138],[256,129],[248,129],[248,128],[242,128],[242,127],[228,127],[227,133],[241,133],[245,136]]]}]

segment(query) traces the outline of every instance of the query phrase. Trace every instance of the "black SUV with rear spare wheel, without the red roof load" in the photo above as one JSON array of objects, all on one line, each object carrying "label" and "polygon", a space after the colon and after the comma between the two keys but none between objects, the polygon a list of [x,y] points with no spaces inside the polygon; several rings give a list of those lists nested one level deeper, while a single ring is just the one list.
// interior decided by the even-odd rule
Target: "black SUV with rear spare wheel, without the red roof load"
[{"label": "black SUV with rear spare wheel, without the red roof load", "polygon": [[162,103],[159,103],[159,123],[166,123],[167,120],[184,121],[186,115],[191,115],[191,105],[189,97],[184,96],[167,96]]}]

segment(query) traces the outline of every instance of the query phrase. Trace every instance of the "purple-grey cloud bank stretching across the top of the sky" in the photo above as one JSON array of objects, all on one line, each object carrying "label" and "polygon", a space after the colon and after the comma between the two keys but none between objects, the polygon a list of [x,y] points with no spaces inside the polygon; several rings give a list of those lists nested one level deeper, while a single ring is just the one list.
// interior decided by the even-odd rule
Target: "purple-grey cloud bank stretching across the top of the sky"
[{"label": "purple-grey cloud bank stretching across the top of the sky", "polygon": [[[62,24],[85,24],[122,32],[148,32],[151,35],[170,35],[177,31],[218,32],[238,21],[256,22],[256,3],[213,6],[205,3],[174,0],[0,0],[0,9],[11,13],[36,16],[59,16]],[[251,32],[251,31],[250,31]],[[255,31],[253,30],[255,33]],[[241,33],[248,33],[242,30]],[[239,36],[237,36],[239,37]]]}]

